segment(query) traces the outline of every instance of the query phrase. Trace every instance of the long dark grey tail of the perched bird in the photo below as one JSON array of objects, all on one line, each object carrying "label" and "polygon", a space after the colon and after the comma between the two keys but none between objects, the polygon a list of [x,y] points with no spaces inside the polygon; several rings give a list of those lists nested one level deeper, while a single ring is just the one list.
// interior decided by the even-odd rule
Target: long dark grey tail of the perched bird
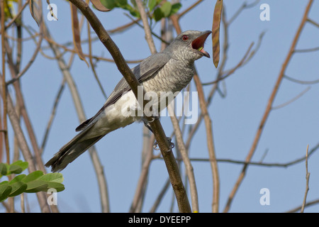
[{"label": "long dark grey tail of the perched bird", "polygon": [[64,145],[58,153],[55,154],[46,164],[45,167],[50,167],[52,172],[63,170],[67,165],[75,160],[84,151],[89,149],[94,143],[99,141],[104,135],[99,135],[94,138],[84,139],[87,131],[82,131],[77,134],[72,140]]}]

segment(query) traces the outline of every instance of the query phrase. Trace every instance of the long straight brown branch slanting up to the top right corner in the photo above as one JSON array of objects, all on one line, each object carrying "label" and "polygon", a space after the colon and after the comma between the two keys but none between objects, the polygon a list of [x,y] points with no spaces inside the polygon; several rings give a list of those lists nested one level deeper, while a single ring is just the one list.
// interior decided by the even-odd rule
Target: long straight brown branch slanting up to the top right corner
[{"label": "long straight brown branch slanting up to the top right corner", "polygon": [[[249,153],[248,153],[248,155],[247,155],[247,157],[245,159],[246,162],[250,162],[250,160],[252,159],[252,155],[254,155],[254,151],[257,148],[257,145],[259,143],[259,139],[260,139],[260,137],[262,135],[262,131],[264,129],[264,125],[265,125],[265,123],[267,121],[267,118],[269,116],[270,111],[272,110],[272,104],[274,103],[274,98],[275,98],[275,96],[276,96],[276,94],[277,94],[277,92],[279,90],[279,86],[281,84],[281,81],[284,78],[285,70],[286,70],[286,68],[289,65],[289,62],[290,62],[291,57],[293,55],[293,50],[296,48],[296,44],[298,42],[298,38],[300,37],[301,31],[303,30],[303,27],[304,27],[304,25],[305,25],[305,23],[307,21],[307,16],[308,16],[308,12],[310,11],[311,4],[313,4],[313,0],[310,0],[308,2],[308,5],[306,6],[306,11],[303,14],[303,18],[301,20],[301,24],[299,25],[298,31],[296,32],[296,35],[293,38],[293,42],[291,43],[291,48],[290,48],[290,50],[288,52],[288,55],[286,56],[286,59],[284,60],[284,64],[281,67],[281,71],[279,72],[278,78],[276,80],[276,84],[274,85],[274,89],[272,90],[272,94],[269,97],[266,110],[264,111],[264,114],[262,116],[262,120],[259,123],[258,129],[257,129],[257,133],[256,133],[256,135],[254,137],[254,141],[252,143],[252,147],[250,148],[250,151],[249,151]],[[234,198],[237,190],[239,189],[240,184],[242,183],[242,180],[245,177],[245,174],[246,174],[246,171],[247,171],[247,167],[248,167],[248,165],[244,165],[244,167],[242,167],[242,171],[240,172],[240,176],[237,178],[237,181],[235,182],[233,190],[232,190],[232,192],[230,192],[230,195],[228,196],[228,201],[227,201],[227,204],[225,206],[224,212],[228,212],[229,211],[230,205],[231,205],[231,203],[233,201],[233,198]]]}]

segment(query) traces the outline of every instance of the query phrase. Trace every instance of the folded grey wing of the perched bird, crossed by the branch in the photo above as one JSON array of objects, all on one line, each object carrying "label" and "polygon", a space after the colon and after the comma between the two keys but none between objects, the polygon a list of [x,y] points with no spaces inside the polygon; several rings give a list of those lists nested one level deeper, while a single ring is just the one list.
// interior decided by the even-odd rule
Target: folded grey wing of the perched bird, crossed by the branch
[{"label": "folded grey wing of the perched bird, crossed by the branch", "polygon": [[[162,68],[171,58],[171,56],[167,52],[159,52],[154,55],[151,55],[150,57],[147,57],[145,60],[143,60],[140,65],[135,66],[132,71],[135,75],[135,78],[138,79],[138,82],[142,83],[145,80],[152,77],[152,75],[155,74],[160,68]],[[120,82],[116,85],[113,92],[108,96],[108,99],[106,100],[105,104],[102,106],[102,108],[99,110],[99,112],[96,113],[92,118],[87,119],[83,123],[81,123],[75,131],[82,131],[89,123],[94,121],[94,118],[96,116],[99,116],[101,112],[106,109],[106,107],[110,106],[111,104],[115,104],[118,99],[121,98],[125,92],[130,91],[130,86],[126,82],[125,78],[122,78]]]}]

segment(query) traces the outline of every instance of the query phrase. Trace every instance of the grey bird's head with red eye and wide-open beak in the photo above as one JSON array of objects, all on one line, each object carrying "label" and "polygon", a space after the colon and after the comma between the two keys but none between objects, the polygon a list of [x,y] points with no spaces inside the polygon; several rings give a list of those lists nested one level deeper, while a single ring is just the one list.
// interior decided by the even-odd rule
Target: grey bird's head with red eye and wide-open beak
[{"label": "grey bird's head with red eye and wide-open beak", "polygon": [[204,43],[211,31],[184,31],[177,35],[168,50],[172,52],[175,57],[182,57],[185,60],[198,60],[205,56],[210,57],[208,52],[204,50]]}]

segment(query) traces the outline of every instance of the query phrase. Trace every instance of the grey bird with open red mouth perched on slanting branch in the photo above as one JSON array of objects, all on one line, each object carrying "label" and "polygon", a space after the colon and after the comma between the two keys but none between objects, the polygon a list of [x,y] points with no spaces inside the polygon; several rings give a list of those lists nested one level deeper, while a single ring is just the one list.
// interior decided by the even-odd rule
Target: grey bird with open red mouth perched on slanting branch
[{"label": "grey bird with open red mouth perched on slanting branch", "polygon": [[[210,57],[203,49],[209,34],[211,31],[185,31],[162,52],[147,57],[134,67],[133,73],[145,92],[175,93],[184,89],[194,76],[194,61],[203,56]],[[167,105],[168,103],[161,105],[159,111],[162,106]],[[136,111],[138,102],[123,78],[97,114],[79,125],[76,131],[80,133],[64,145],[45,166],[51,166],[52,172],[63,170],[104,135],[142,119],[142,116],[131,112],[128,114],[128,109]]]}]

